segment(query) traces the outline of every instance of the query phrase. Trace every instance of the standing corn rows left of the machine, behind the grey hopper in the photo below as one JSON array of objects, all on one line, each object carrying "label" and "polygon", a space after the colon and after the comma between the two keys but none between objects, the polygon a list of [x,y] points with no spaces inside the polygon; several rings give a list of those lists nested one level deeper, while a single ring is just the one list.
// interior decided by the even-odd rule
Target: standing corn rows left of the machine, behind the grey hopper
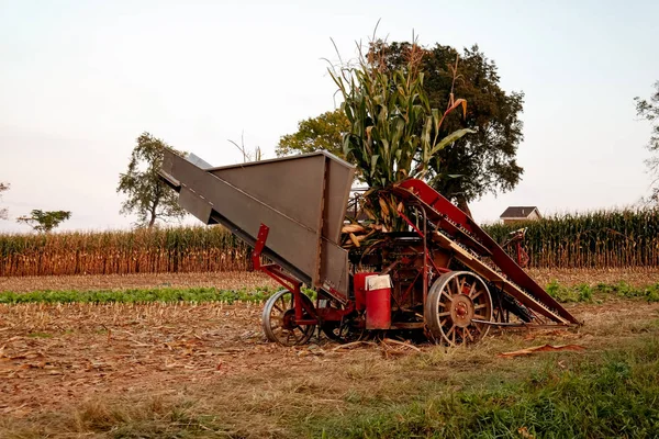
[{"label": "standing corn rows left of the machine, behind the grey hopper", "polygon": [[250,248],[226,229],[0,234],[0,275],[242,271]]}]

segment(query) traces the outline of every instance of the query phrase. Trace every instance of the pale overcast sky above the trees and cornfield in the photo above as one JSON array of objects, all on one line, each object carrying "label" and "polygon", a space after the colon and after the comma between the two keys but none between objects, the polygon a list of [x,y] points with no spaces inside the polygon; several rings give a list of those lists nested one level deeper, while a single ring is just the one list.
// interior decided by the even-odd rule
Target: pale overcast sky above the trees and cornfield
[{"label": "pale overcast sky above the trees and cornfield", "polygon": [[212,165],[227,139],[275,156],[298,121],[334,108],[325,57],[380,36],[479,44],[506,91],[524,91],[520,185],[472,205],[544,213],[613,209],[648,194],[648,124],[633,98],[659,79],[659,1],[0,0],[0,230],[33,209],[62,229],[129,227],[119,173],[144,131]]}]

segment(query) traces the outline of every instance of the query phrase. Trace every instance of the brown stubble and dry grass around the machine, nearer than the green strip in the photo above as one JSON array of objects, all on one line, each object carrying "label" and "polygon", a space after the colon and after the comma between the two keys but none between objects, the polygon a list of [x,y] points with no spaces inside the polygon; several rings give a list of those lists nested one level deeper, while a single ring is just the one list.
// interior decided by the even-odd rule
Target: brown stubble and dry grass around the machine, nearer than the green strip
[{"label": "brown stubble and dry grass around the machine, nearer than the green strip", "polygon": [[[188,423],[200,436],[300,436],[290,423],[340,413],[350,395],[395,399],[421,392],[424,380],[450,383],[451,371],[465,368],[518,373],[516,359],[498,353],[546,342],[597,351],[656,331],[659,322],[659,304],[640,301],[571,311],[585,322],[581,329],[492,335],[447,350],[326,339],[283,348],[264,340],[260,306],[249,304],[1,305],[0,437],[124,437],[116,425],[130,437],[152,437],[139,428],[168,437],[176,410],[196,419]],[[204,424],[208,413],[213,420]]]}]

